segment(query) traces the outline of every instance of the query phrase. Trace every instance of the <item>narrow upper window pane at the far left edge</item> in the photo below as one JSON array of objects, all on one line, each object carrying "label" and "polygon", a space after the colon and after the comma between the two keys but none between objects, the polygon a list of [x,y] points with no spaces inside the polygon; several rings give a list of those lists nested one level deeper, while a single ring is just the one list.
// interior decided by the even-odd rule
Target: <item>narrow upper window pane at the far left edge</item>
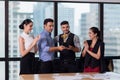
[{"label": "narrow upper window pane at the far left edge", "polygon": [[5,57],[5,3],[0,1],[0,57]]}]

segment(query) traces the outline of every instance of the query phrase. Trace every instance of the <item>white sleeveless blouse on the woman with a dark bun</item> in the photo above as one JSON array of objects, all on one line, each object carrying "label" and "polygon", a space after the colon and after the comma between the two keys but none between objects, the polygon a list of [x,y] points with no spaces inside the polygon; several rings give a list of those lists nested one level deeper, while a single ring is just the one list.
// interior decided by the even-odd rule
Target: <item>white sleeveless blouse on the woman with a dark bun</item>
[{"label": "white sleeveless blouse on the woman with a dark bun", "polygon": [[[32,34],[26,34],[25,32],[23,32],[21,35],[20,35],[24,41],[25,41],[25,49],[28,49],[28,47],[31,45],[31,43],[33,42],[33,35]],[[34,47],[30,50],[30,52],[35,52],[34,50]]]}]

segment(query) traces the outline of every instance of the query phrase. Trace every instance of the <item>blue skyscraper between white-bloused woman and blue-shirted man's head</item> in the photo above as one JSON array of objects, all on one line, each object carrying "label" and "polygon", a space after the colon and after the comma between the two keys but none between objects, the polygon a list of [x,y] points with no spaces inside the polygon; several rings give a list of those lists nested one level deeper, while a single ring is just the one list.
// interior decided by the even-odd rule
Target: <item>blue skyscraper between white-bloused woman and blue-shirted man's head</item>
[{"label": "blue skyscraper between white-bloused woman and blue-shirted man's head", "polygon": [[[37,3],[34,8],[33,8],[33,20],[34,20],[34,34],[38,35],[42,29],[43,29],[43,22],[45,18],[52,18],[50,17],[51,15],[53,15],[53,7],[51,8],[51,6],[53,6],[53,3],[44,3],[44,2],[40,2]],[[47,10],[49,11],[47,11]],[[47,12],[46,12],[47,11]],[[50,15],[50,16],[48,16]],[[46,17],[47,16],[47,17]]]}]

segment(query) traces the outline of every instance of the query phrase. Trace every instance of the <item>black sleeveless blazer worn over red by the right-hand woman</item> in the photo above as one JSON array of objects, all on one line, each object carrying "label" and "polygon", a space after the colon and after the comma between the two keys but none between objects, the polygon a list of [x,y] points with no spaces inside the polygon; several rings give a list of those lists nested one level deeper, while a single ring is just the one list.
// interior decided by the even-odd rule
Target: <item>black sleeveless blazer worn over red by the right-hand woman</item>
[{"label": "black sleeveless blazer worn over red by the right-hand woman", "polygon": [[[92,40],[87,40],[88,46],[90,47]],[[84,67],[90,66],[92,68],[94,67],[100,67],[100,72],[104,72],[104,42],[102,42],[100,39],[97,40],[92,52],[97,53],[100,46],[101,51],[101,57],[99,60],[93,58],[91,55],[86,53],[84,57]]]}]

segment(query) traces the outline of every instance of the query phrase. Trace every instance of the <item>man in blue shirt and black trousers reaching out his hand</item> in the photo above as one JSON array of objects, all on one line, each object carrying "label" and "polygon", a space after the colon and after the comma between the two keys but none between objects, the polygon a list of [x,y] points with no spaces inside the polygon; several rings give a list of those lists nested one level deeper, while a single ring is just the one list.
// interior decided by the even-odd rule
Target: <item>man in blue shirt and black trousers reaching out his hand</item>
[{"label": "man in blue shirt and black trousers reaching out his hand", "polygon": [[45,19],[44,30],[40,33],[40,40],[38,42],[39,59],[41,61],[40,73],[52,73],[54,52],[64,49],[64,46],[54,47],[54,41],[51,38],[53,28],[53,19]]}]

